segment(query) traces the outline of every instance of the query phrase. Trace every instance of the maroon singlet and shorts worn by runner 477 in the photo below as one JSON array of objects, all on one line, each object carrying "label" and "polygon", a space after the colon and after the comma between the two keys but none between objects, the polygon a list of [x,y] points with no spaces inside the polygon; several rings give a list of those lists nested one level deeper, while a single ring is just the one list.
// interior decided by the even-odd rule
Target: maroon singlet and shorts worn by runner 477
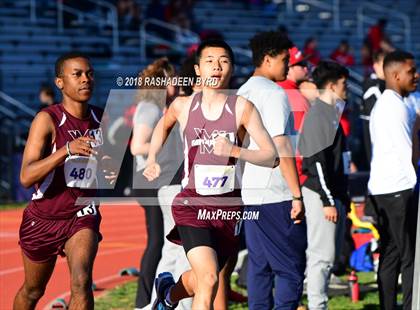
[{"label": "maroon singlet and shorts worn by runner 477", "polygon": [[[233,238],[233,230],[237,220],[200,220],[197,214],[200,209],[216,210],[226,209],[242,210],[241,191],[238,177],[235,174],[234,190],[220,195],[200,195],[195,183],[196,165],[236,165],[233,157],[217,156],[213,153],[214,138],[224,135],[235,144],[240,145],[236,125],[236,100],[237,96],[228,96],[223,111],[217,120],[208,120],[203,115],[201,107],[202,93],[197,93],[192,100],[188,121],[183,133],[184,140],[184,174],[182,179],[182,191],[175,197],[172,205],[172,214],[177,226],[192,226],[202,228],[218,228],[227,234],[227,239]],[[205,167],[204,167],[205,168]],[[205,171],[205,170],[204,170]],[[210,180],[213,182],[213,180]],[[204,182],[206,184],[206,182]],[[213,182],[213,185],[215,183]],[[221,183],[219,183],[220,185]],[[212,184],[209,183],[209,187]],[[168,239],[181,243],[174,229]]]}]

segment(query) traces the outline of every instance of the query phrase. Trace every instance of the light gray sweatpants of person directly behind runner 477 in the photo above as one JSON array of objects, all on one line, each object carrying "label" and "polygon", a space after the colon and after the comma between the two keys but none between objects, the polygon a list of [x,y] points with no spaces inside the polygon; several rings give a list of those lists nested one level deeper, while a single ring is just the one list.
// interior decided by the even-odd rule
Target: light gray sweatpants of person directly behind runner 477
[{"label": "light gray sweatpants of person directly behind runner 477", "polygon": [[[163,228],[165,236],[169,234],[174,227],[175,222],[172,217],[172,201],[181,191],[181,185],[163,186],[158,192],[159,205],[163,214]],[[185,271],[191,269],[190,263],[185,255],[184,248],[180,245],[170,242],[165,238],[162,248],[162,258],[156,270],[156,277],[161,272],[170,272],[174,276],[175,282]],[[150,309],[156,299],[156,289],[153,287],[151,304],[143,309]],[[177,309],[190,310],[192,298],[183,299],[179,302]]]}]

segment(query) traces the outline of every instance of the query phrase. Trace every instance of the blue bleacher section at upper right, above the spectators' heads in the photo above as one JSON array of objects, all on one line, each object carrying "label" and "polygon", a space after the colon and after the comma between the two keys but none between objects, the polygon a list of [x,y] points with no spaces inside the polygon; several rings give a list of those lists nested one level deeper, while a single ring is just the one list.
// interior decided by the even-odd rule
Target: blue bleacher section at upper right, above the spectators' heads
[{"label": "blue bleacher section at upper right, above the spectators' heads", "polygon": [[[360,62],[360,48],[363,37],[358,29],[358,9],[367,2],[377,4],[383,10],[365,10],[369,20],[364,25],[363,36],[378,18],[388,18],[387,32],[399,48],[406,48],[401,33],[402,23],[393,13],[406,14],[411,22],[411,51],[420,55],[420,7],[410,0],[372,0],[372,1],[311,1],[278,0],[276,5],[266,4],[259,7],[247,7],[243,2],[198,1],[194,14],[200,25],[206,29],[215,29],[223,33],[232,46],[247,47],[248,40],[257,31],[276,30],[284,25],[289,36],[299,47],[309,37],[318,39],[319,50],[327,58],[342,39],[347,39],[354,49],[354,56]],[[339,27],[335,27],[333,4],[339,3]],[[289,9],[287,5],[291,4]],[[322,5],[320,5],[320,3]],[[356,71],[360,71],[356,67]]]}]

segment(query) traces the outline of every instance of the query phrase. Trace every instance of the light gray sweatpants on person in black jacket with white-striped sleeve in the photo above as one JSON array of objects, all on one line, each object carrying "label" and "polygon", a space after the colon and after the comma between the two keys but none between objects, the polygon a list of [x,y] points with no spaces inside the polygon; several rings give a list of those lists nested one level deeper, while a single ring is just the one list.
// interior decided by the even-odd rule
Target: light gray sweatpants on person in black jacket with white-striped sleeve
[{"label": "light gray sweatpants on person in black jacket with white-striped sleeve", "polygon": [[308,248],[306,250],[306,278],[310,310],[328,309],[328,283],[331,268],[344,240],[346,212],[343,204],[335,200],[338,211],[336,224],[324,217],[321,197],[303,187],[306,208]]}]

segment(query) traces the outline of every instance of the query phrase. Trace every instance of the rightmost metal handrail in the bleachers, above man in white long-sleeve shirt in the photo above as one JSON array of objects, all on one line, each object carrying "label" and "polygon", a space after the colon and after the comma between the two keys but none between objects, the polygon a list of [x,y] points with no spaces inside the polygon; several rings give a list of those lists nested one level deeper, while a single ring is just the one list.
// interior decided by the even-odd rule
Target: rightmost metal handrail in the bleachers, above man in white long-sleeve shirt
[{"label": "rightmost metal handrail in the bleachers, above man in white long-sleeve shirt", "polygon": [[388,28],[394,29],[397,31],[401,31],[404,35],[404,43],[406,50],[411,50],[411,21],[410,17],[408,17],[407,14],[395,11],[394,9],[388,9],[384,6],[365,2],[359,6],[357,9],[357,33],[359,38],[363,38],[364,36],[364,24],[374,25],[377,22],[376,18],[372,18],[368,15],[366,15],[365,11],[366,9],[369,9],[374,12],[384,13],[387,15],[391,15],[399,20],[402,21],[404,27],[392,27],[389,25]]}]

